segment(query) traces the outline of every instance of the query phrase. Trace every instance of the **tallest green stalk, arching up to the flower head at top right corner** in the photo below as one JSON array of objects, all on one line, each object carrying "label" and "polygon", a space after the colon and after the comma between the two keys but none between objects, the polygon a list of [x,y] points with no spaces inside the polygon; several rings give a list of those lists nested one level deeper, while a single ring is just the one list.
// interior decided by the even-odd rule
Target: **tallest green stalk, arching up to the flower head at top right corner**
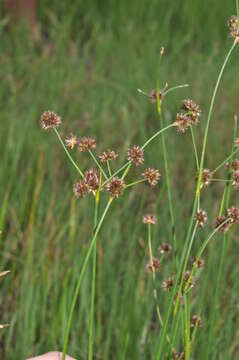
[{"label": "tallest green stalk, arching up to the flower head at top right corner", "polygon": [[183,253],[181,256],[181,261],[180,261],[180,267],[179,267],[179,271],[177,272],[177,276],[176,276],[176,281],[175,281],[175,286],[173,288],[172,291],[172,297],[170,299],[170,303],[168,306],[168,311],[167,311],[167,316],[164,322],[164,327],[162,330],[162,334],[161,334],[161,338],[160,338],[160,342],[159,342],[159,347],[158,347],[158,351],[157,351],[157,355],[156,355],[156,359],[159,360],[163,351],[163,347],[164,347],[164,342],[165,342],[165,336],[166,336],[166,332],[167,332],[167,328],[168,328],[168,322],[169,322],[169,318],[172,312],[172,308],[173,308],[173,302],[174,302],[174,296],[176,294],[176,287],[177,287],[177,282],[180,276],[180,271],[182,269],[183,266],[183,262],[184,262],[184,257],[186,254],[186,249],[188,246],[188,241],[190,239],[190,234],[191,234],[191,230],[192,230],[192,225],[193,225],[193,219],[194,219],[194,215],[196,212],[196,208],[197,208],[197,199],[199,198],[199,193],[200,193],[200,187],[201,187],[201,180],[202,180],[202,170],[203,170],[203,165],[204,165],[204,159],[205,159],[205,151],[206,151],[206,145],[207,145],[207,136],[208,136],[208,130],[209,130],[209,125],[210,125],[210,120],[211,120],[211,116],[212,116],[212,110],[214,107],[214,103],[215,103],[215,99],[216,99],[216,94],[217,94],[217,90],[224,72],[224,69],[226,67],[226,64],[230,58],[230,55],[233,51],[235,47],[235,44],[232,45],[232,47],[230,48],[224,63],[222,65],[222,68],[219,72],[219,76],[213,91],[213,95],[212,95],[212,100],[211,100],[211,104],[210,104],[210,108],[209,108],[209,113],[208,113],[208,118],[207,118],[207,123],[206,123],[206,129],[204,132],[204,139],[203,139],[203,147],[202,147],[202,155],[201,155],[201,162],[200,162],[200,168],[199,168],[199,177],[198,177],[198,182],[197,182],[197,187],[196,187],[196,193],[195,193],[195,199],[194,199],[194,204],[193,204],[193,209],[192,209],[192,214],[191,214],[191,219],[190,219],[190,223],[189,223],[189,228],[188,228],[188,232],[187,232],[187,236],[186,236],[186,241],[185,241],[185,245],[183,247]]}]

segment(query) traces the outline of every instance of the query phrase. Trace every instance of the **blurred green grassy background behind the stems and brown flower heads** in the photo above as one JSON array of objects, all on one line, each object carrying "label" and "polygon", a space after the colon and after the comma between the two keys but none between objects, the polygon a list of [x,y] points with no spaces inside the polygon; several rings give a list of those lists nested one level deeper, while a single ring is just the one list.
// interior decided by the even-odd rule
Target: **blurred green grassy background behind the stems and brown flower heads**
[{"label": "blurred green grassy background behind the stems and brown flower heads", "polygon": [[[235,12],[233,0],[40,0],[41,38],[36,41],[27,24],[7,22],[1,3],[0,269],[11,270],[0,287],[0,323],[10,323],[0,333],[1,359],[62,349],[74,286],[92,233],[93,200],[74,199],[77,174],[54,134],[41,130],[41,113],[51,109],[60,114],[63,136],[70,131],[79,137],[95,135],[96,153],[113,148],[120,154],[120,165],[130,144],[142,144],[159,128],[155,106],[137,92],[150,92],[159,73],[161,87],[165,82],[190,84],[166,99],[165,122],[174,120],[181,99],[194,99],[202,109],[196,129],[201,146],[213,86],[232,42],[227,20]],[[161,46],[166,52],[159,71]],[[206,155],[206,166],[212,169],[231,150],[233,115],[239,109],[238,56],[236,49],[216,101]],[[182,249],[195,163],[190,134],[170,130],[166,142]],[[77,151],[74,158],[84,169],[91,163]],[[155,249],[172,241],[160,140],[145,153],[145,164],[160,169],[160,187],[140,185],[117,200],[100,234],[95,359],[153,359],[158,344],[141,217],[147,211],[158,217]],[[222,191],[222,185],[214,185],[203,198],[210,226]],[[233,197],[236,204],[236,193]],[[207,231],[198,235],[195,251]],[[236,231],[227,248],[211,359],[239,358]],[[204,358],[221,245],[218,236],[195,289],[193,311],[200,309],[204,324],[193,359]],[[170,275],[170,267],[170,262],[165,264],[159,283]],[[87,358],[90,276],[89,267],[71,331],[69,353],[77,359]],[[168,299],[160,294],[162,309]]]}]

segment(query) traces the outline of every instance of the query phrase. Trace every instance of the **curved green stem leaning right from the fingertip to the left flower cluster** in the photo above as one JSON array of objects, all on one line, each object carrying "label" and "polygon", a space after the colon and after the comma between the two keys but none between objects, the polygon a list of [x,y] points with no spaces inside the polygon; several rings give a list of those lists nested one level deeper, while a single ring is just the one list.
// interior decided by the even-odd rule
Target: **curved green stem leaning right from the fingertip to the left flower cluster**
[{"label": "curved green stem leaning right from the fingertip to the left flower cluster", "polygon": [[88,265],[88,262],[89,262],[89,259],[90,259],[90,255],[92,253],[92,250],[93,250],[94,244],[96,242],[98,233],[99,233],[99,231],[101,229],[104,218],[105,218],[105,216],[106,216],[106,214],[107,214],[107,212],[109,210],[109,207],[110,207],[112,201],[113,201],[113,199],[110,198],[107,205],[106,205],[106,207],[105,207],[105,210],[104,210],[104,212],[103,212],[103,214],[102,214],[102,216],[101,216],[101,218],[100,218],[100,220],[98,222],[98,225],[97,225],[97,227],[95,229],[94,236],[93,236],[93,238],[91,240],[89,249],[88,249],[88,251],[86,253],[83,265],[82,265],[81,270],[80,270],[79,280],[78,280],[78,283],[77,283],[76,288],[75,288],[75,292],[74,292],[74,296],[73,296],[73,300],[72,300],[72,304],[71,304],[71,309],[70,309],[70,314],[69,314],[69,318],[68,318],[68,321],[67,321],[62,360],[66,359],[66,351],[67,351],[67,347],[68,347],[70,328],[71,328],[71,323],[72,323],[72,319],[73,319],[74,309],[75,309],[75,306],[76,306],[77,298],[78,298],[80,287],[81,287],[81,282],[82,282],[83,276],[85,274],[85,271],[86,271],[86,268],[87,268],[87,265]]}]

